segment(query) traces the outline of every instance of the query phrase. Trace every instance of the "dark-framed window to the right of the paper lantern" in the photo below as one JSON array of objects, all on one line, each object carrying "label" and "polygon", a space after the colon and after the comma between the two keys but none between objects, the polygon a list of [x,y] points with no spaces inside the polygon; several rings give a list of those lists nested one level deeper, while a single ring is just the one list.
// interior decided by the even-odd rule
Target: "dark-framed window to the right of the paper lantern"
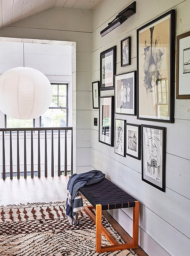
[{"label": "dark-framed window to the right of the paper lantern", "polygon": [[68,126],[68,84],[52,84],[52,103],[41,116],[41,127]]}]

